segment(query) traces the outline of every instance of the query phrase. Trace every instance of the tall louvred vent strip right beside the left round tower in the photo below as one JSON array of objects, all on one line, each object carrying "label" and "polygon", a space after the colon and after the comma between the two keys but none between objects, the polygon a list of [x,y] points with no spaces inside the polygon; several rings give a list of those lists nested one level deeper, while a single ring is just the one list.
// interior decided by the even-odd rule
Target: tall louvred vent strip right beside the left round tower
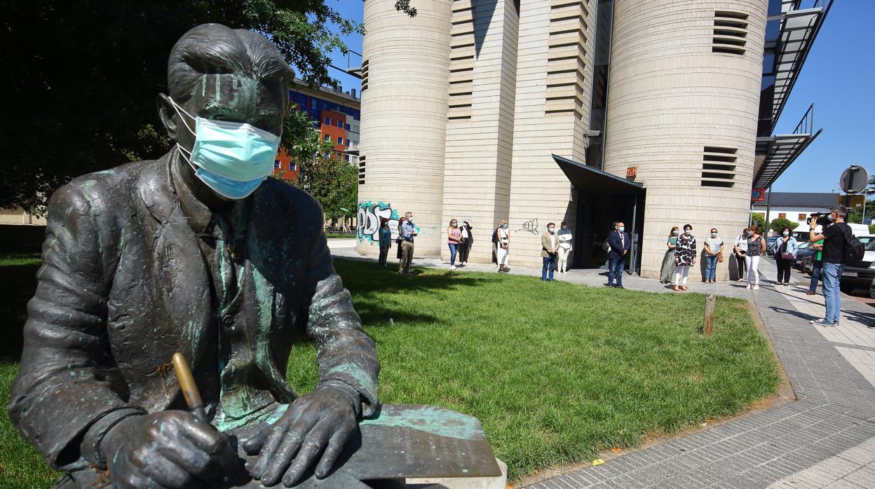
[{"label": "tall louvred vent strip right beside the left round tower", "polygon": [[471,119],[474,85],[474,9],[471,0],[452,3],[450,31],[450,97],[447,118]]}]

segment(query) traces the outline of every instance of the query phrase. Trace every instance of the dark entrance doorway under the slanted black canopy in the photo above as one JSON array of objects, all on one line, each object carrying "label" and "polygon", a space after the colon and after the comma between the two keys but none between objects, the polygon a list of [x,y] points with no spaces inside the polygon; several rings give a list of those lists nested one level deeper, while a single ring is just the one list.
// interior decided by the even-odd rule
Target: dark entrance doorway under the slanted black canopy
[{"label": "dark entrance doorway under the slanted black canopy", "polygon": [[641,184],[605,171],[553,155],[556,164],[577,190],[577,221],[571,265],[577,269],[606,269],[607,252],[602,243],[621,220],[632,238],[627,269],[641,270],[641,230],[644,228],[644,196]]}]

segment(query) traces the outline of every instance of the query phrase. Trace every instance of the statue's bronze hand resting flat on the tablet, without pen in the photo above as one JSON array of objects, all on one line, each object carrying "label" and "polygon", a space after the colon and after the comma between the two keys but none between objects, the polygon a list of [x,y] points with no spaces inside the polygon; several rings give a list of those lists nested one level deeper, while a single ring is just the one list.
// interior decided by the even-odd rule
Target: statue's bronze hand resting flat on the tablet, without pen
[{"label": "statue's bronze hand resting flat on the tablet, without pen", "polygon": [[284,486],[292,486],[321,454],[316,477],[325,478],[357,425],[353,402],[335,388],[299,397],[276,423],[243,444],[247,453],[259,454],[252,477],[264,486],[280,478]]}]

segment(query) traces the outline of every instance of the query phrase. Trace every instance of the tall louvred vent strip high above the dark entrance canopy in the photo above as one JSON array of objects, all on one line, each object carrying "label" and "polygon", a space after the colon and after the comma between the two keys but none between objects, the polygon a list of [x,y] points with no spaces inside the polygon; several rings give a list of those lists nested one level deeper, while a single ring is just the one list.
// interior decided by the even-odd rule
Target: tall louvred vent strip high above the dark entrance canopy
[{"label": "tall louvred vent strip high above the dark entrance canopy", "polygon": [[589,0],[550,0],[544,113],[583,116]]}]

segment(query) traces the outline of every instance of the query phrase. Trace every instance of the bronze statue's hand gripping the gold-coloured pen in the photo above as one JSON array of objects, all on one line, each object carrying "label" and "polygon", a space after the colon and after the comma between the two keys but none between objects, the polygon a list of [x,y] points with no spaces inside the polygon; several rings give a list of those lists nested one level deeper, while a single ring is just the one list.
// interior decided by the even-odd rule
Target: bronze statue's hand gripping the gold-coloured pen
[{"label": "bronze statue's hand gripping the gold-coloured pen", "polygon": [[118,423],[100,450],[113,486],[186,487],[233,472],[237,456],[219,431],[186,411]]}]

